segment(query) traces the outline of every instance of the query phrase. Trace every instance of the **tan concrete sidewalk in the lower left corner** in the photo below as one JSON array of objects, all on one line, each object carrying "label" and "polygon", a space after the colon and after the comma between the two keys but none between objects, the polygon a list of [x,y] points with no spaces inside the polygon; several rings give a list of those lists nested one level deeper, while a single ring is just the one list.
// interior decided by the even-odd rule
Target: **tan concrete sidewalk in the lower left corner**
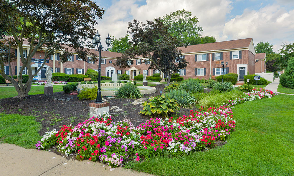
[{"label": "tan concrete sidewalk in the lower left corner", "polygon": [[149,176],[150,174],[121,167],[110,171],[108,165],[103,163],[89,160],[66,160],[53,152],[28,150],[16,145],[2,143],[0,144],[0,175]]}]

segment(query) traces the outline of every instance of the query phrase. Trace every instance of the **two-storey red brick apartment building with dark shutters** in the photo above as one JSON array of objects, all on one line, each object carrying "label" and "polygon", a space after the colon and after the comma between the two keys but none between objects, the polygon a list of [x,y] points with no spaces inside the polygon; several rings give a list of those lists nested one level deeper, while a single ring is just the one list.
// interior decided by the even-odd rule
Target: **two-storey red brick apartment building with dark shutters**
[{"label": "two-storey red brick apartment building with dark shutters", "polygon": [[[27,49],[29,46],[24,45],[24,56],[27,56]],[[191,45],[187,48],[180,48],[182,55],[189,62],[189,65],[185,69],[179,70],[179,73],[184,79],[199,78],[209,79],[210,75],[212,79],[222,74],[221,62],[228,62],[228,65],[224,68],[224,74],[236,73],[238,74],[238,80],[243,79],[244,75],[255,73],[255,49],[252,38],[238,39],[231,41],[221,41],[216,43]],[[18,75],[19,70],[22,67],[20,62],[19,49],[14,49],[16,53],[16,61],[11,62],[12,73]],[[92,50],[92,52],[96,52]],[[98,52],[96,52],[98,55]],[[38,80],[46,79],[45,72],[47,68],[51,67],[52,72],[61,72],[66,74],[85,74],[87,69],[94,69],[98,71],[98,63],[91,62],[91,56],[88,56],[87,62],[78,58],[76,53],[69,58],[69,61],[62,63],[59,58],[60,53],[56,52],[46,60],[45,67],[38,73]],[[129,74],[130,79],[138,74],[147,73],[151,76],[153,73],[160,73],[163,78],[164,75],[159,70],[148,70],[149,64],[144,63],[146,58],[133,59],[133,64],[129,64],[130,68],[120,69],[117,66],[113,66],[116,61],[116,57],[120,56],[120,53],[115,52],[102,52],[101,58],[101,75],[110,76],[112,73],[117,74]],[[31,62],[31,67],[34,71],[37,70],[41,58],[44,58],[44,52],[37,52]],[[257,62],[258,63],[258,62]],[[39,64],[39,65],[38,65]],[[263,69],[263,68],[262,68]],[[8,73],[8,66],[5,67],[5,72]],[[27,70],[24,69],[23,74],[27,74]]]}]

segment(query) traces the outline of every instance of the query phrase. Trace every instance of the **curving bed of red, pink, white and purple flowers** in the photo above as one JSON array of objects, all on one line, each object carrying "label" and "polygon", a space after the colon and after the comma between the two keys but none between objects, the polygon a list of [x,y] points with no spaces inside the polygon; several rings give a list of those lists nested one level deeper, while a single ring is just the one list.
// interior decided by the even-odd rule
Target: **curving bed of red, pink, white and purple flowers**
[{"label": "curving bed of red, pink, white and purple flowers", "polygon": [[113,122],[104,112],[78,124],[63,125],[60,131],[46,132],[36,144],[38,149],[57,145],[65,155],[77,154],[80,159],[105,162],[111,167],[122,166],[130,159],[154,155],[185,155],[213,146],[216,140],[226,140],[235,129],[231,107],[245,101],[271,98],[275,94],[254,88],[244,97],[219,108],[200,109],[178,118],[151,118],[138,127],[127,120]]}]

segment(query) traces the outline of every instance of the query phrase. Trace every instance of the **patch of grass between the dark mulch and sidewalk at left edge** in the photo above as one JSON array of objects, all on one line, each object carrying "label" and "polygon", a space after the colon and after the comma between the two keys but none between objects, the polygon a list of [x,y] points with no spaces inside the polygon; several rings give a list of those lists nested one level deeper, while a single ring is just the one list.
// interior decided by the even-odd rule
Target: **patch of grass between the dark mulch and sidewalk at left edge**
[{"label": "patch of grass between the dark mulch and sidewalk at left edge", "polygon": [[36,117],[0,113],[1,142],[15,144],[27,149],[35,148],[34,144],[42,138],[38,133],[40,129]]}]

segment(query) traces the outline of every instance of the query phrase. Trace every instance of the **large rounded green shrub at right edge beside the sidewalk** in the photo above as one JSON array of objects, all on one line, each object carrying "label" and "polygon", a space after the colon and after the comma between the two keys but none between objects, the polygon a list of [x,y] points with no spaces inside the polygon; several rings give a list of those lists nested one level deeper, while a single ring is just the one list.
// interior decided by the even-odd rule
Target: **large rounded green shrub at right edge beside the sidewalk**
[{"label": "large rounded green shrub at right edge beside the sidewalk", "polygon": [[280,76],[280,83],[283,87],[294,89],[294,57],[291,57],[288,61],[285,73]]}]

